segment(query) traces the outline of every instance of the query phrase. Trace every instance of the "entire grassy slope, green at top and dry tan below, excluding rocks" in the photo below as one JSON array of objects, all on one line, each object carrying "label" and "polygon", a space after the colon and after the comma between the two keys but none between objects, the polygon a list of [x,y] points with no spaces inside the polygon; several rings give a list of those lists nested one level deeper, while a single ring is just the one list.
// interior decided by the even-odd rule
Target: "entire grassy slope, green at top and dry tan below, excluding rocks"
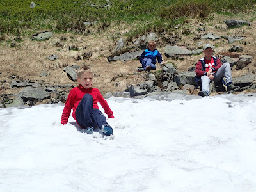
[{"label": "entire grassy slope, green at top and dry tan below, excluding rocks", "polygon": [[[17,2],[22,2],[22,4],[18,4]],[[0,19],[8,26],[8,28],[4,28],[4,22],[0,22],[2,36],[0,45],[3,48],[0,51],[1,94],[20,91],[20,89],[10,89],[10,82],[13,81],[13,79],[10,79],[12,75],[17,76],[14,80],[19,81],[30,79],[33,81],[44,81],[49,84],[74,84],[74,86],[76,86],[76,83],[68,79],[67,74],[63,72],[63,68],[67,65],[83,65],[84,63],[92,66],[95,70],[93,86],[100,88],[102,93],[106,93],[109,90],[113,92],[123,91],[126,86],[140,83],[143,80],[143,77],[136,75],[136,68],[140,63],[138,60],[127,61],[125,63],[121,61],[108,63],[106,57],[113,53],[115,43],[119,38],[126,38],[129,44],[132,44],[132,41],[135,40],[136,37],[143,34],[147,35],[150,32],[155,32],[159,36],[161,35],[167,38],[178,36],[179,41],[177,45],[185,46],[188,49],[199,48],[200,45],[198,45],[198,42],[205,43],[203,40],[195,40],[195,37],[202,35],[202,33],[214,32],[220,35],[246,36],[245,40],[236,42],[236,44],[244,47],[244,51],[239,54],[255,55],[256,41],[254,34],[256,31],[254,12],[225,12],[225,14],[209,12],[209,15],[207,15],[205,19],[196,17],[196,15],[193,15],[193,12],[191,12],[193,17],[172,18],[172,15],[170,16],[167,13],[177,9],[177,4],[173,4],[173,6],[169,7],[166,6],[166,2],[170,3],[173,1],[111,1],[113,6],[111,10],[95,8],[95,6],[106,4],[106,1],[90,1],[90,4],[86,3],[88,1],[76,1],[79,3],[73,4],[72,1],[68,1],[69,3],[65,1],[51,1],[51,6],[49,6],[50,1],[40,0],[34,2],[36,3],[35,9],[29,8],[31,1],[8,1],[8,3],[4,5],[4,8],[3,3],[1,3]],[[58,2],[63,4],[58,4]],[[195,1],[195,3],[196,2],[197,1]],[[239,1],[237,2],[239,4]],[[70,3],[72,5],[70,5]],[[90,5],[93,3],[95,6],[91,7]],[[220,3],[220,1],[218,3]],[[17,7],[17,4],[20,10],[15,11],[14,7]],[[24,4],[26,4],[26,6],[24,6]],[[43,6],[44,4],[47,4],[47,7],[51,7],[49,10],[54,10],[54,12],[48,10],[49,13],[47,13],[46,8]],[[200,1],[198,1],[197,4],[200,5]],[[10,5],[12,5],[13,8],[10,8]],[[81,10],[78,8],[74,9],[73,6],[78,6]],[[186,12],[186,6],[188,6],[188,4],[181,3],[179,8],[184,8],[184,12]],[[63,7],[63,9],[61,7]],[[5,11],[6,14],[4,15],[3,10],[8,10],[8,8],[12,11]],[[38,12],[38,10],[42,8],[44,8],[45,11],[42,13]],[[84,13],[85,9],[90,10],[89,13],[86,13],[86,15],[91,14],[90,17],[82,17],[79,15],[79,13]],[[24,10],[28,10],[28,12]],[[61,12],[61,10],[65,10],[65,12]],[[223,11],[225,10],[222,10],[222,12]],[[93,15],[94,12],[95,15]],[[180,10],[178,9],[177,12],[180,12]],[[29,13],[38,13],[38,15],[31,17],[33,19],[29,20],[26,19]],[[61,17],[59,17],[60,14]],[[81,28],[81,22],[98,19],[100,22],[96,26]],[[227,26],[223,24],[223,20],[226,19],[244,19],[251,21],[252,25],[237,29],[227,29]],[[19,25],[15,25],[15,22],[19,23]],[[22,26],[24,23],[27,23],[26,28]],[[77,28],[77,26],[79,26],[79,28]],[[206,30],[199,32],[197,30],[198,26],[205,26]],[[8,30],[4,31],[3,29]],[[46,42],[32,42],[29,39],[32,33],[47,29],[51,29],[55,32],[50,40]],[[81,31],[79,31],[80,29]],[[92,33],[90,35],[83,35],[83,30],[88,29],[90,29]],[[184,31],[187,30],[190,32],[188,34],[184,33]],[[82,33],[79,34],[76,32]],[[67,40],[61,41],[62,36],[67,37]],[[13,38],[19,42],[16,47],[10,47],[10,42]],[[164,38],[161,40],[164,40]],[[61,44],[64,45],[63,49],[56,47],[54,45],[56,42],[61,42]],[[223,39],[211,43],[216,45],[217,53],[226,52],[231,46]],[[86,49],[70,51],[68,49],[70,45],[76,45],[81,48],[86,47]],[[166,42],[158,42],[158,48],[162,54],[164,45],[166,45]],[[92,52],[92,56],[86,60],[74,60],[84,52]],[[49,61],[48,57],[51,54],[58,54],[59,59]],[[164,61],[174,63],[179,72],[181,72],[182,70],[187,70],[189,65],[195,63],[199,57],[200,56],[184,56],[184,61],[164,57]],[[249,67],[244,68],[244,70],[232,70],[234,77],[248,72],[255,73],[254,63],[256,63],[255,59],[253,59],[253,63],[250,64]],[[49,70],[49,72],[51,72],[50,76],[40,77],[39,74],[43,70]],[[157,67],[157,70],[159,70],[159,67]]]}]

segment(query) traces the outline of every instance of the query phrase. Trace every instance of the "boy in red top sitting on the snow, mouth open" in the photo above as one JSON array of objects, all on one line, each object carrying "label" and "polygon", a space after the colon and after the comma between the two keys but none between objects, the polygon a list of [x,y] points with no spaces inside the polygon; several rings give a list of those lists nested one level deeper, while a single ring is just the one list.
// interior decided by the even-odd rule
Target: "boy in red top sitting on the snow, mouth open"
[{"label": "boy in red top sitting on the snow, mouth open", "polygon": [[94,127],[99,127],[103,134],[109,136],[113,134],[113,129],[106,122],[105,116],[99,110],[97,102],[104,109],[108,118],[114,118],[113,112],[108,106],[106,100],[102,97],[99,89],[92,88],[93,72],[86,65],[77,72],[77,81],[79,86],[72,88],[61,116],[61,124],[65,125],[73,109],[72,116],[87,134],[93,134]]}]

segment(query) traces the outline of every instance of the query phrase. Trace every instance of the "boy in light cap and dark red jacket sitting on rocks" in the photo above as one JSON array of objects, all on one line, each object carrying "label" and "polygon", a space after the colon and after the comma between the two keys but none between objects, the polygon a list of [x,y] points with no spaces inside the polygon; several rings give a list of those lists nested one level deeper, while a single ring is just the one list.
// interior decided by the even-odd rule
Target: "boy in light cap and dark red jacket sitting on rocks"
[{"label": "boy in light cap and dark red jacket sitting on rocks", "polygon": [[209,96],[209,83],[211,81],[217,83],[223,76],[225,77],[228,92],[237,88],[232,83],[230,64],[223,63],[222,65],[219,58],[212,56],[214,51],[213,45],[205,44],[203,49],[205,57],[196,63],[196,79],[198,81],[201,80],[202,83],[202,91],[198,95],[202,97]]}]

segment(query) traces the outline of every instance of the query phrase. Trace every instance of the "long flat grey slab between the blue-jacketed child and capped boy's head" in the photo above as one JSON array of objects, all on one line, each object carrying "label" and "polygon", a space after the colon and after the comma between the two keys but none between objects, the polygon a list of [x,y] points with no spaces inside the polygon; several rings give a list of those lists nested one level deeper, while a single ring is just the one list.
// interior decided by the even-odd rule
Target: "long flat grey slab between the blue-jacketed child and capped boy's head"
[{"label": "long flat grey slab between the blue-jacketed child and capped boy's head", "polygon": [[178,47],[177,45],[171,46],[166,45],[164,47],[164,54],[166,57],[173,57],[177,55],[192,55],[192,54],[200,54],[203,50],[197,49],[196,51],[190,51],[186,49],[185,47]]}]

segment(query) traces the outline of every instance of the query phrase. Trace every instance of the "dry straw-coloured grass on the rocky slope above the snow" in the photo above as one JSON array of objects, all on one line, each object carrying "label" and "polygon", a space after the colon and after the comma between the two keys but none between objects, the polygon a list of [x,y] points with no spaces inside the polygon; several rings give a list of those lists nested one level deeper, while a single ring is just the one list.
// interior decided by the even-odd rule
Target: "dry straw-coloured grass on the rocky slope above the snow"
[{"label": "dry straw-coloured grass on the rocky slope above the snow", "polygon": [[[177,45],[185,46],[187,49],[198,49],[205,43],[211,43],[215,45],[215,54],[218,55],[221,52],[227,52],[232,45],[241,45],[243,52],[239,54],[248,54],[255,56],[256,40],[255,40],[255,22],[252,22],[251,26],[242,26],[236,29],[227,29],[223,20],[230,18],[221,15],[212,15],[213,20],[203,21],[200,19],[188,19],[186,24],[180,26],[175,31],[181,40]],[[233,18],[242,20],[244,18]],[[248,18],[250,20],[250,18]],[[198,26],[205,26],[205,31],[198,31]],[[106,57],[110,56],[115,49],[115,43],[119,38],[124,38],[127,31],[132,31],[133,26],[130,24],[121,24],[110,26],[104,29],[100,33],[93,33],[92,35],[79,35],[74,33],[58,34],[54,33],[51,39],[46,42],[31,41],[29,38],[22,38],[22,42],[17,47],[10,48],[7,42],[1,44],[0,51],[0,79],[7,79],[9,83],[13,81],[9,77],[15,74],[20,79],[42,80],[49,84],[74,84],[76,82],[68,79],[67,74],[63,72],[63,68],[68,65],[90,65],[95,72],[93,77],[93,86],[100,88],[102,93],[108,91],[122,92],[127,86],[131,84],[138,84],[144,81],[141,72],[138,74],[136,69],[140,66],[138,60],[133,61],[116,61],[108,63]],[[183,35],[185,29],[189,29],[191,32],[189,35]],[[154,31],[152,31],[154,32]],[[218,35],[239,35],[244,36],[244,40],[241,42],[234,42],[234,44],[228,44],[227,40],[220,38],[219,40],[207,41],[207,40],[195,40],[195,37],[206,33],[216,33]],[[66,41],[61,41],[61,37],[65,36]],[[63,44],[63,48],[56,47],[56,42]],[[202,45],[198,45],[201,42]],[[79,51],[70,51],[68,47],[76,45],[79,47]],[[204,55],[183,56],[184,61],[173,60],[172,58],[166,58],[164,56],[163,42],[160,42],[161,47],[157,47],[163,56],[163,60],[166,62],[172,62],[177,66],[177,70],[182,72],[188,70],[188,67],[196,63],[198,59]],[[86,47],[84,49],[84,47]],[[92,52],[92,56],[84,60],[74,61],[77,56],[83,55],[84,52]],[[52,54],[58,54],[58,60],[50,61],[48,58]],[[232,69],[233,77],[240,76],[241,74],[248,74],[249,72],[255,73],[255,58],[252,63],[245,67],[243,70]],[[160,69],[157,66],[157,70]],[[40,73],[43,70],[48,70],[50,76],[40,77]],[[2,83],[1,94],[12,93],[13,90],[8,88],[8,82]],[[18,91],[18,89],[16,90]]]}]

